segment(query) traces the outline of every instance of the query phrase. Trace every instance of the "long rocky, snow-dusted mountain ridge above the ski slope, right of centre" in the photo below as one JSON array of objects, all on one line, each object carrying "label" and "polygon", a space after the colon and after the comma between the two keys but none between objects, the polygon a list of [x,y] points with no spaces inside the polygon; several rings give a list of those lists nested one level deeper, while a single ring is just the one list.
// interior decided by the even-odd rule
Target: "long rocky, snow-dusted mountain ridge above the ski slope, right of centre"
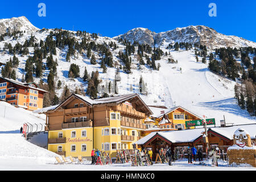
[{"label": "long rocky, snow-dusted mountain ridge above the ski slope, right of centre", "polygon": [[118,38],[129,40],[132,43],[136,41],[140,44],[150,44],[151,46],[187,42],[191,44],[199,43],[210,49],[220,47],[256,47],[255,42],[237,36],[220,34],[213,28],[206,26],[188,26],[160,33],[152,32],[147,28],[134,28],[125,34],[115,36],[113,39],[117,40]]}]

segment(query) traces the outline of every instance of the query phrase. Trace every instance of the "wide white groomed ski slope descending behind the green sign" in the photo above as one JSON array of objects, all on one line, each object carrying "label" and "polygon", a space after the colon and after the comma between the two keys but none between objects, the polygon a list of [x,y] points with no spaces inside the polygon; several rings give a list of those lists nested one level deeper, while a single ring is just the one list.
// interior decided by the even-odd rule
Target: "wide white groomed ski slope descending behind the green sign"
[{"label": "wide white groomed ski slope descending behind the green sign", "polygon": [[161,64],[159,74],[168,80],[166,87],[170,90],[174,106],[180,105],[200,116],[215,118],[218,126],[224,115],[227,123],[256,122],[255,117],[236,104],[236,82],[210,72],[208,64],[197,63],[192,50],[172,51],[171,55],[178,64],[168,64],[166,60],[158,63]]}]

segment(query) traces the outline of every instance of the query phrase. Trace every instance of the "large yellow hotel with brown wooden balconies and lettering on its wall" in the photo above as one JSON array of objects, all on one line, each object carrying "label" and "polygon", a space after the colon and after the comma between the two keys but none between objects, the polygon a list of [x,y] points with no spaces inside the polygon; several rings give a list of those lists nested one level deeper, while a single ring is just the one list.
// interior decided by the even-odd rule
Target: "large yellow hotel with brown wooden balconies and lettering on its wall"
[{"label": "large yellow hotel with brown wooden balconies and lettering on its wall", "polygon": [[152,114],[138,94],[97,100],[72,94],[43,112],[47,115],[48,150],[89,159],[93,148],[108,152],[112,159],[117,150],[133,149],[146,129],[144,119]]}]

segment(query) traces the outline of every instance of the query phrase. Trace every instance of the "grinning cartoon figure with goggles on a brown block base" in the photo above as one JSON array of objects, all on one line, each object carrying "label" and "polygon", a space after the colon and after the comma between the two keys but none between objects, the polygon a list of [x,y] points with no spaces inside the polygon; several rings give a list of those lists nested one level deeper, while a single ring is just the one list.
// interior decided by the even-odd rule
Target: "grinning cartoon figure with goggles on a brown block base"
[{"label": "grinning cartoon figure with goggles on a brown block base", "polygon": [[251,144],[249,133],[239,128],[234,132],[233,140],[233,146],[228,148],[229,164],[256,167],[256,146]]}]

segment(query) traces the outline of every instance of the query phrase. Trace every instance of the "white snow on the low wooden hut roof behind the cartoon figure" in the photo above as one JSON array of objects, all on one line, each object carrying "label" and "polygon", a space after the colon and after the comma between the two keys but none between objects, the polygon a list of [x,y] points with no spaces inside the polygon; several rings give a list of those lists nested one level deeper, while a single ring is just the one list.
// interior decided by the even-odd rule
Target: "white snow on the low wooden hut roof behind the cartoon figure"
[{"label": "white snow on the low wooden hut roof behind the cartoon figure", "polygon": [[[256,135],[256,124],[253,125],[240,125],[240,126],[230,126],[230,127],[211,127],[208,131],[212,130],[222,136],[233,139],[234,132],[238,129],[245,129],[251,136],[251,139],[255,139]],[[201,137],[204,132],[204,128],[201,129],[191,129],[191,130],[175,130],[175,131],[158,131],[148,134],[146,137],[135,142],[135,144],[144,144],[156,134],[166,138],[172,143],[183,143],[183,142],[193,142],[195,139]]]}]

